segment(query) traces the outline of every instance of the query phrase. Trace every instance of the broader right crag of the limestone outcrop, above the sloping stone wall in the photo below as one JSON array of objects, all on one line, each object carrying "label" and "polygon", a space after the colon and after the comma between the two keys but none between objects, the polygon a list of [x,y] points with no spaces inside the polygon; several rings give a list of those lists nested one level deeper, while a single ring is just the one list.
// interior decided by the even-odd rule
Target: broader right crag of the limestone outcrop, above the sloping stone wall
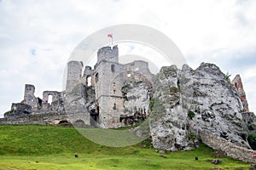
[{"label": "broader right crag of the limestone outcrop, above the sloping stone wall", "polygon": [[241,100],[224,73],[216,65],[202,63],[191,77],[194,93],[187,109],[195,112],[195,117],[189,120],[194,133],[212,133],[250,148]]}]

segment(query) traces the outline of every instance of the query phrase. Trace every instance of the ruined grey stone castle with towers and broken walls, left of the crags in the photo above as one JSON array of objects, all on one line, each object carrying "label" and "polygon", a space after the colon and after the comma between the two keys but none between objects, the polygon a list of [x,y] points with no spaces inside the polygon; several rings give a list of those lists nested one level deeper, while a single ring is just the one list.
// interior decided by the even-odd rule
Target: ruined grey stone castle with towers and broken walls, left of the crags
[{"label": "ruined grey stone castle with towers and broken walls, left of the crags", "polygon": [[[119,63],[119,48],[103,47],[97,52],[97,62],[92,69],[82,61],[67,63],[66,90],[44,91],[43,99],[34,96],[35,87],[25,85],[24,99],[12,104],[4,117],[55,114],[46,123],[63,122],[60,117],[67,114],[64,122],[80,123],[93,127],[123,127],[143,121],[149,114],[151,82],[154,75],[148,63],[136,60],[128,64]],[[127,90],[143,86],[143,94],[129,96]],[[49,103],[49,98],[52,99]],[[17,119],[16,119],[17,120]],[[17,123],[20,123],[17,121]],[[45,122],[39,122],[45,124]]]}]

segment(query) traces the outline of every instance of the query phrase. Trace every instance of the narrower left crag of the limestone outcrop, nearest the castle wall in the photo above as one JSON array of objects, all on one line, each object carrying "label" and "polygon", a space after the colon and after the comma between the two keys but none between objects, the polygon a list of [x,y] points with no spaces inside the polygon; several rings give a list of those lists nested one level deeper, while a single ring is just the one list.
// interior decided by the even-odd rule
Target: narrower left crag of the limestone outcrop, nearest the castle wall
[{"label": "narrower left crag of the limestone outcrop, nearest the castle wall", "polygon": [[160,150],[191,150],[194,146],[187,130],[187,110],[180,105],[177,74],[172,65],[154,77],[154,107],[149,122],[154,148]]}]

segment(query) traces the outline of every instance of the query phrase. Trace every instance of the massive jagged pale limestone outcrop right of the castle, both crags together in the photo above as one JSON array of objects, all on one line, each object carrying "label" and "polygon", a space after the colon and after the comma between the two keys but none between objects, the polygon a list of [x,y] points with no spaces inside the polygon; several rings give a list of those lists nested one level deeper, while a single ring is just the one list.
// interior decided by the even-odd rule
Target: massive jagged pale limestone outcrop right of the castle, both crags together
[{"label": "massive jagged pale limestone outcrop right of the castle, both crags together", "polygon": [[191,150],[202,133],[250,148],[241,100],[218,66],[202,63],[195,71],[188,65],[182,70],[163,67],[153,87],[150,124],[155,148]]}]

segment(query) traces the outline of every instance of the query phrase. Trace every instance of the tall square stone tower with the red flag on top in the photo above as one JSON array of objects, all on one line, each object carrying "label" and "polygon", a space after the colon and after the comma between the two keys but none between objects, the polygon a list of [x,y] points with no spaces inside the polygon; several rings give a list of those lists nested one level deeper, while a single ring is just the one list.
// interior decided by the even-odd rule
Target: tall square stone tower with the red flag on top
[{"label": "tall square stone tower with the red flag on top", "polygon": [[123,112],[121,81],[114,81],[123,71],[119,62],[117,46],[104,47],[98,50],[95,65],[96,104],[99,123],[102,127],[114,127],[119,124],[119,113]]}]

